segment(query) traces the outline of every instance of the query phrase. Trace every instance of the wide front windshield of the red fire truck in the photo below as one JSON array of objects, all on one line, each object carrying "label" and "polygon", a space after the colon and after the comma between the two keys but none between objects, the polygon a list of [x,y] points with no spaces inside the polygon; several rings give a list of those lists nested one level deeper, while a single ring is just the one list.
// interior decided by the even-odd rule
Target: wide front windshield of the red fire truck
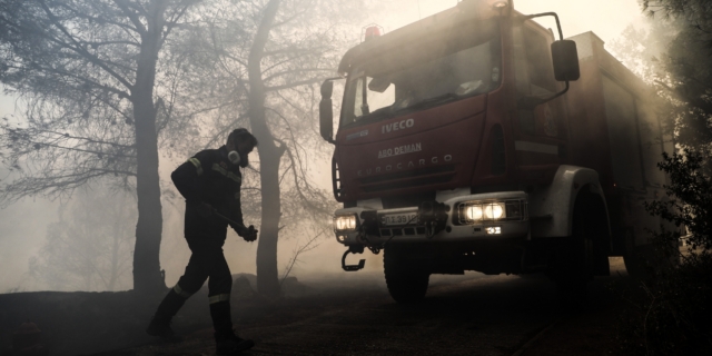
[{"label": "wide front windshield of the red fire truck", "polygon": [[356,66],[346,85],[342,126],[383,120],[498,87],[498,26],[457,27]]}]

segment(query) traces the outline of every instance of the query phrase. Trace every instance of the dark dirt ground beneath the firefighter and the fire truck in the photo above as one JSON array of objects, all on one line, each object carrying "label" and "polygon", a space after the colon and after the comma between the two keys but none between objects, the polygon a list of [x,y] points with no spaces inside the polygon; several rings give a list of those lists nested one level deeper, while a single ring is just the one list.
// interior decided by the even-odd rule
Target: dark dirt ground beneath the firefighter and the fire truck
[{"label": "dark dirt ground beneath the firefighter and the fire truck", "polygon": [[[236,329],[256,346],[245,355],[615,355],[614,327],[624,303],[612,276],[589,286],[582,310],[562,309],[543,277],[433,276],[426,299],[400,306],[382,274],[345,273],[285,283],[286,296],[265,300],[254,276],[236,276]],[[179,344],[157,343],[145,328],[162,296],[132,293],[0,295],[0,350],[30,318],[51,355],[212,355],[205,290],[174,320]]]}]

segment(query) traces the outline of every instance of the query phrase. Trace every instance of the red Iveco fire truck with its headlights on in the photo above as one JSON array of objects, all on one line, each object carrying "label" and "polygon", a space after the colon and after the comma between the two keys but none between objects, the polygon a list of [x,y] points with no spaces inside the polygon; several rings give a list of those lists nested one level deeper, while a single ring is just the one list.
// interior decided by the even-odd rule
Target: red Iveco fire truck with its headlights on
[{"label": "red Iveco fire truck with its headlights on", "polygon": [[343,269],[383,250],[397,303],[422,299],[432,274],[545,273],[572,291],[609,275],[609,256],[640,270],[661,222],[643,204],[664,195],[655,165],[672,148],[654,93],[593,32],[563,39],[554,12],[463,0],[389,33],[368,28],[338,75],[319,120],[335,146]]}]

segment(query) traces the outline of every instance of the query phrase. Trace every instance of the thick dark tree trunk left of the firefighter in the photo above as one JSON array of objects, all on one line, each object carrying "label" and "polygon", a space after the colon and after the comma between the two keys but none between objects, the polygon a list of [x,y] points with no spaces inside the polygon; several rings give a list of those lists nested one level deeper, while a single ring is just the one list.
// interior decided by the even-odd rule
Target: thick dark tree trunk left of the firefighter
[{"label": "thick dark tree trunk left of the firefighter", "polygon": [[158,176],[158,134],[154,106],[156,62],[161,47],[165,11],[165,1],[152,1],[149,6],[147,31],[141,36],[136,85],[131,89],[134,119],[136,120],[136,192],[138,197],[134,289],[144,293],[154,293],[166,288],[159,260],[164,221]]}]

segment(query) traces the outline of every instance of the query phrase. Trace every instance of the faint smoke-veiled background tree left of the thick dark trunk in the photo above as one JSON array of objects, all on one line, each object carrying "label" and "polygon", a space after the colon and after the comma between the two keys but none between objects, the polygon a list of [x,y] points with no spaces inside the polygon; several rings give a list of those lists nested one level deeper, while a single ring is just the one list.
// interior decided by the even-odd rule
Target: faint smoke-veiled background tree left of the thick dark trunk
[{"label": "faint smoke-veiled background tree left of the thick dark trunk", "polygon": [[30,276],[52,290],[121,290],[130,286],[130,221],[135,198],[108,187],[83,187],[47,226],[30,259]]}]

